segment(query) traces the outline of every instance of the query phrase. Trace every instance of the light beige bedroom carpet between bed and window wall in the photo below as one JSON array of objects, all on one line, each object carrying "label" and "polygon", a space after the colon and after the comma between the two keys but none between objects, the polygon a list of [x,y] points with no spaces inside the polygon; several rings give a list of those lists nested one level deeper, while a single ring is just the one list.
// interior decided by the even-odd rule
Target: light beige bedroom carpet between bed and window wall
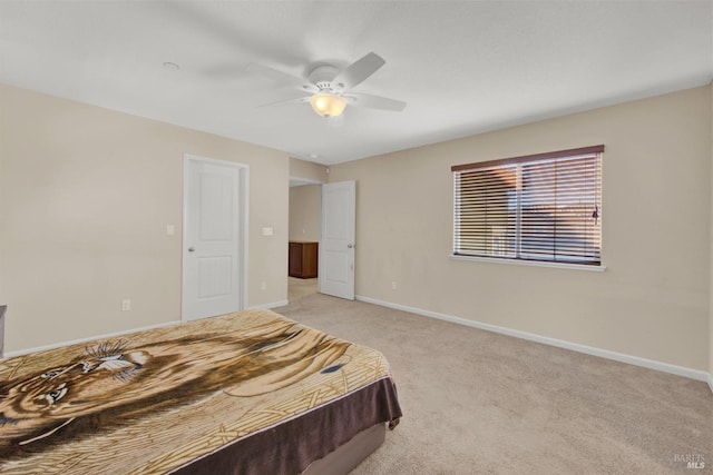
[{"label": "light beige bedroom carpet between bed and window wall", "polygon": [[355,475],[713,473],[705,383],[321,294],[276,311],[391,364],[404,415]]}]

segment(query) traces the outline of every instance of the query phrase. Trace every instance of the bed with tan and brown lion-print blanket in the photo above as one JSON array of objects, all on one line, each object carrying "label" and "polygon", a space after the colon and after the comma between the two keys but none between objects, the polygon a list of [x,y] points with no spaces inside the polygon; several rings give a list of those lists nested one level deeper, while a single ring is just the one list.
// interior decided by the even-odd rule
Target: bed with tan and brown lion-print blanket
[{"label": "bed with tan and brown lion-print blanket", "polygon": [[401,417],[379,352],[271,310],[0,360],[0,473],[339,474]]}]

